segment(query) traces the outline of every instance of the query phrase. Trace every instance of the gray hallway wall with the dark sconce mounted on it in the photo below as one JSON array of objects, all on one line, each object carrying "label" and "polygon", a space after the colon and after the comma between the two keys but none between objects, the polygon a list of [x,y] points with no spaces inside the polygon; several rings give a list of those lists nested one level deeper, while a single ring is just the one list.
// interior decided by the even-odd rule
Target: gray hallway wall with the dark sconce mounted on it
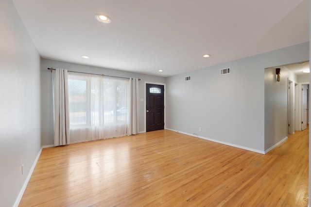
[{"label": "gray hallway wall with the dark sconce mounted on it", "polygon": [[265,150],[274,146],[288,135],[288,79],[298,83],[298,78],[286,68],[281,68],[280,74],[280,81],[277,82],[275,68],[266,68],[264,70]]}]

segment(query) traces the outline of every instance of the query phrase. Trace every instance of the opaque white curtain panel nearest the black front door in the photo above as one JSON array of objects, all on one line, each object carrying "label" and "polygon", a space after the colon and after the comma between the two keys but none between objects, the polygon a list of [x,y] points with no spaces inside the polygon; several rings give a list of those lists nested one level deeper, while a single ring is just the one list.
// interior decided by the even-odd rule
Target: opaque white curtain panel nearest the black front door
[{"label": "opaque white curtain panel nearest the black front door", "polygon": [[138,122],[138,79],[130,79],[130,123],[129,135],[137,134],[139,131]]}]

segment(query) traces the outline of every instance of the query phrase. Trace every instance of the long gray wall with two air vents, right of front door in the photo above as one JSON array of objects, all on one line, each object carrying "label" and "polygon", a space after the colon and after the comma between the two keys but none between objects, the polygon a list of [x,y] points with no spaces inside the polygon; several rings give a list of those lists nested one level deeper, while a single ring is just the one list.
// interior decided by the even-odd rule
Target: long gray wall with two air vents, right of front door
[{"label": "long gray wall with two air vents, right of front door", "polygon": [[[167,128],[265,150],[264,68],[309,60],[309,43],[170,77]],[[220,76],[220,69],[231,74]],[[191,80],[184,81],[185,76]],[[202,131],[199,131],[202,127]]]}]

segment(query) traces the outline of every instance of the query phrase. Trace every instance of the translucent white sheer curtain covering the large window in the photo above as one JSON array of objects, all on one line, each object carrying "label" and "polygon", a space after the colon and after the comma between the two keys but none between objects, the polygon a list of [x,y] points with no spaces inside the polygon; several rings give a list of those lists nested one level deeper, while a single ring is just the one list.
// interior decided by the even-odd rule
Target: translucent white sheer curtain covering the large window
[{"label": "translucent white sheer curtain covering the large window", "polygon": [[131,135],[130,80],[69,72],[70,143]]}]

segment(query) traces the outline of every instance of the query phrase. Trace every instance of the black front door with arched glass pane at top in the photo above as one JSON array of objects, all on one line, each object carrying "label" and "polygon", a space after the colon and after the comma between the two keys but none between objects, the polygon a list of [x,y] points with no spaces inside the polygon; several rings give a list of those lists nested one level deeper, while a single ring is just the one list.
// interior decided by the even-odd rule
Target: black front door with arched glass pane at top
[{"label": "black front door with arched glass pane at top", "polygon": [[146,84],[146,131],[164,129],[164,85]]}]

